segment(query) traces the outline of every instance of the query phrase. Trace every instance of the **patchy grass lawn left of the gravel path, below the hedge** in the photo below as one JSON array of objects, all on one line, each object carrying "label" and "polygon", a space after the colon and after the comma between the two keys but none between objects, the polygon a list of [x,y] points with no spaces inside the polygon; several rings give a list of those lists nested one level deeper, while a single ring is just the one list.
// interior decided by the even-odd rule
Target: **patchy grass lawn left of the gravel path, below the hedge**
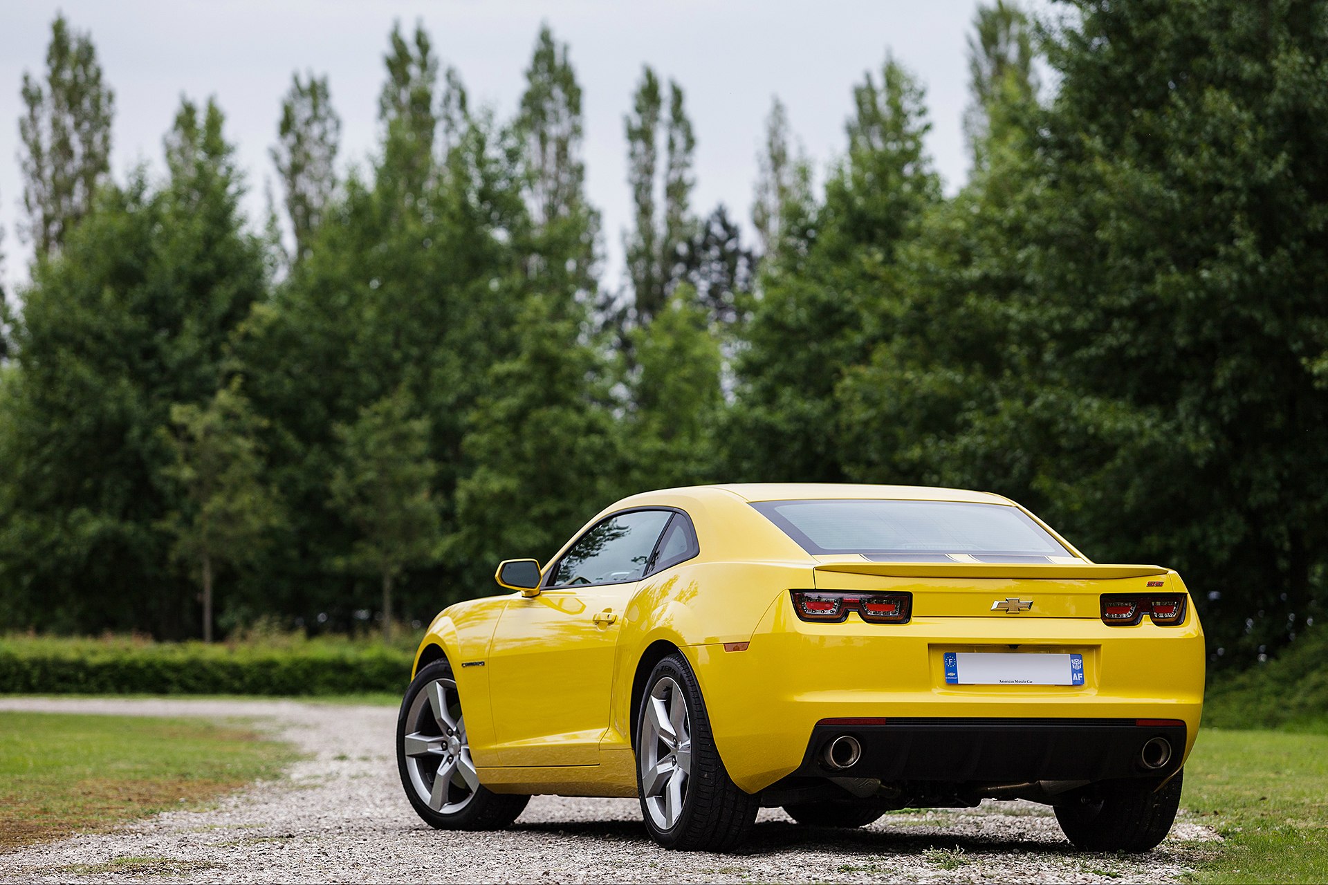
[{"label": "patchy grass lawn left of the gravel path, below the hedge", "polygon": [[0,852],[197,805],[293,755],[243,726],[0,713]]}]

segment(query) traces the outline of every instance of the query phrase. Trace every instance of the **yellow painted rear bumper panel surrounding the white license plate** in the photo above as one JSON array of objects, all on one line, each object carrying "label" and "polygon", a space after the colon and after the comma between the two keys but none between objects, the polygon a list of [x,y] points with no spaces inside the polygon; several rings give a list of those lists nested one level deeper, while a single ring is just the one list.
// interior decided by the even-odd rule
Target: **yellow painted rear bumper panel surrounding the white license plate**
[{"label": "yellow painted rear bumper panel surrounding the white license plate", "polygon": [[[946,682],[943,659],[947,651],[996,650],[1078,653],[1084,659],[1085,683]],[[1183,735],[1174,743],[1173,754],[1179,766],[1194,746],[1203,709],[1203,633],[1193,614],[1179,628],[1150,624],[1114,628],[1098,618],[1038,618],[1016,624],[988,617],[915,617],[906,625],[887,629],[853,621],[806,624],[794,617],[788,604],[772,606],[744,651],[725,651],[722,645],[697,645],[685,647],[684,653],[701,683],[724,766],[733,782],[749,793],[761,792],[798,771],[823,719],[886,718],[890,723],[1127,720],[1130,728],[1137,719],[1169,719],[1183,723]],[[904,732],[886,728],[894,742],[887,747],[898,748]],[[1089,758],[1101,752],[1102,742],[1112,743],[1112,730],[1102,732],[1096,727],[1037,731],[1041,738],[1031,738],[1016,728],[1005,736],[981,739],[983,747],[993,750],[968,751],[952,731],[908,734],[908,756],[916,755],[914,747],[928,742],[951,747],[944,752],[934,751],[942,760],[939,768],[973,764],[973,758],[976,764],[988,764],[983,760],[1011,750],[1015,759],[1023,760],[1012,768],[1036,772],[1028,780],[1062,779],[1053,774],[1057,770],[1037,768],[1029,760],[1056,762],[1078,751]],[[1029,740],[1033,750],[1020,750]],[[1081,750],[1076,750],[1076,743]],[[1041,754],[1037,747],[1042,748]],[[1138,747],[1126,750],[1133,755]],[[1109,766],[1109,770],[1120,771],[1121,764]],[[1072,767],[1068,762],[1061,766],[1062,770],[1068,767]],[[1007,774],[997,770],[991,780],[1005,780]],[[817,771],[817,776],[826,775]]]}]

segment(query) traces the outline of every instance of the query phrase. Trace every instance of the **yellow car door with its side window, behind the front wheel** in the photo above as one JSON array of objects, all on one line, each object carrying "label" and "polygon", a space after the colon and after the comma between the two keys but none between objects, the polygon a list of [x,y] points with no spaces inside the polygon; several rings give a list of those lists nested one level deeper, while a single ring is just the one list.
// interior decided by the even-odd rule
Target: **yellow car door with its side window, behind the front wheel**
[{"label": "yellow car door with its side window, behind the front wheel", "polygon": [[554,563],[538,596],[507,601],[487,661],[501,764],[599,763],[620,618],[672,515],[600,520]]}]

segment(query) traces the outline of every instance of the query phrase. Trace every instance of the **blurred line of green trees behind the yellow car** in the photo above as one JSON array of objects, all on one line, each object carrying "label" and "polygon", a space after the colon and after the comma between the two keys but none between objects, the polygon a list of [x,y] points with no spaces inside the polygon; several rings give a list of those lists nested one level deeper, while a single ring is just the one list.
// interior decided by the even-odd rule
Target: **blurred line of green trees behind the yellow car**
[{"label": "blurred line of green trees behind the yellow car", "polygon": [[210,634],[215,593],[223,630],[386,626],[615,496],[819,480],[1009,495],[1181,569],[1215,659],[1293,640],[1328,559],[1328,1],[997,0],[968,54],[957,194],[887,56],[823,175],[773,102],[754,241],[692,204],[684,92],[645,68],[618,285],[547,27],[511,117],[394,28],[344,176],[295,74],[255,224],[212,101],[165,176],[112,179],[113,93],[57,17],[0,300],[0,624]]}]

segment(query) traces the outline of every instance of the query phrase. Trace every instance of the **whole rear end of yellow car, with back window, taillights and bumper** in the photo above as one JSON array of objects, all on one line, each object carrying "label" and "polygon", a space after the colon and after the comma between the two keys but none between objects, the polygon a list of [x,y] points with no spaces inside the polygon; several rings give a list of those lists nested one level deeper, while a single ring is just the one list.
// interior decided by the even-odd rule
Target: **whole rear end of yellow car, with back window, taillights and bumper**
[{"label": "whole rear end of yellow car, with back window, taillights and bumper", "polygon": [[814,565],[745,650],[703,661],[741,787],[772,805],[1054,803],[1183,766],[1204,655],[1179,576],[1089,563],[984,498],[753,503]]}]

